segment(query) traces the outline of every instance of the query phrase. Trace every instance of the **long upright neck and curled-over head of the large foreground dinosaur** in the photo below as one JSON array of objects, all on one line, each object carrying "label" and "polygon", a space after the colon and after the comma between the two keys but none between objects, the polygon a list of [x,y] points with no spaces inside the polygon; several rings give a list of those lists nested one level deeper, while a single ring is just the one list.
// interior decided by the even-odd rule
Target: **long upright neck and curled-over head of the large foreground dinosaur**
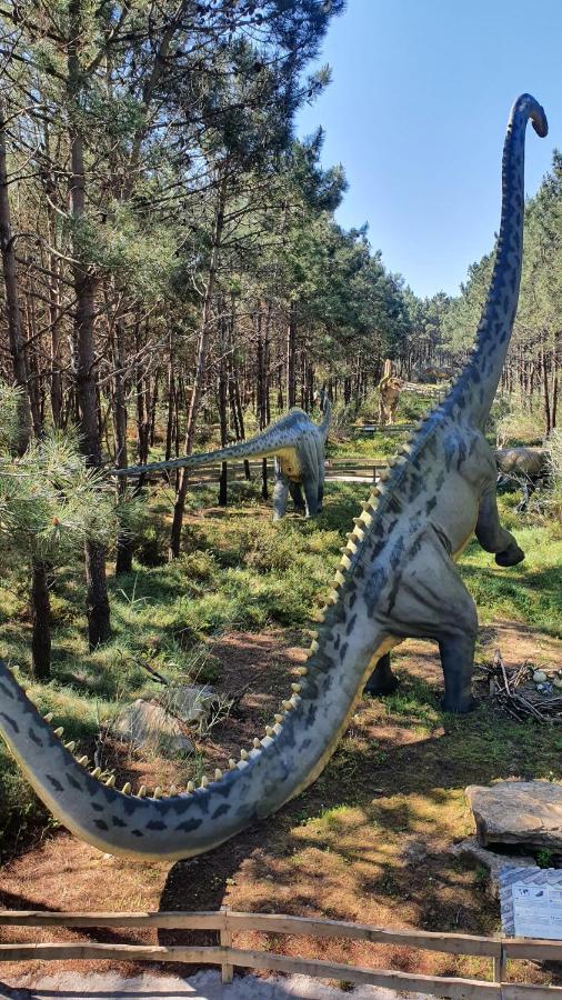
[{"label": "long upright neck and curled-over head of the large foreground dinosaur", "polygon": [[541,106],[524,93],[513,104],[502,161],[502,216],[488,298],[476,332],[473,354],[443,408],[455,406],[483,429],[500,382],[518,308],[523,259],[525,127],[548,133]]}]

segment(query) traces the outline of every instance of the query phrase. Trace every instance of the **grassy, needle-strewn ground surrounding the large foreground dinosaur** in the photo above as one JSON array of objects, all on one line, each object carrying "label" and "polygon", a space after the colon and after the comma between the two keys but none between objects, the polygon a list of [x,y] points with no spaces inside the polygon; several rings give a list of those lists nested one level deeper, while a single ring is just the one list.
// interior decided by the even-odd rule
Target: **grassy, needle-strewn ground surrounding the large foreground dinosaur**
[{"label": "grassy, needle-strewn ground surrounding the large foreground dinosaur", "polygon": [[[370,452],[372,458],[380,454]],[[44,711],[54,712],[69,738],[80,740],[81,752],[91,753],[100,719],[111,718],[123,701],[159,692],[147,666],[172,679],[212,682],[229,696],[245,687],[238,716],[218,723],[204,738],[194,734],[195,751],[189,757],[131,759],[114,744],[106,749],[107,763],[120,780],[152,786],[172,780],[184,784],[201,774],[205,762],[211,769],[223,766],[234,747],[247,746],[262,731],[287,691],[300,649],[308,644],[310,617],[323,603],[340,547],[365,493],[364,486],[329,483],[320,518],[288,517],[272,524],[257,483],[237,483],[227,510],[213,506],[215,487],[205,487],[190,496],[183,554],[169,564],[162,553],[171,497],[158,492],[142,532],[139,554],[144,562],[136,561],[129,577],[110,578],[114,631],[103,649],[88,652],[83,589],[77,573],[59,574],[53,592],[53,679],[47,686],[31,684],[32,698]],[[478,657],[489,659],[499,642],[508,659],[530,656],[553,666],[558,658],[562,666],[556,644],[562,539],[535,516],[516,514],[515,501],[501,498],[502,516],[508,527],[516,529],[525,561],[500,569],[475,543],[462,559],[461,572],[484,626]],[[29,619],[23,581],[2,582],[0,609],[0,654],[18,664],[26,680]],[[518,646],[520,639],[524,643]],[[68,892],[74,892],[66,897],[67,904],[73,901],[77,909],[88,904],[103,909],[107,893],[122,908],[131,908],[131,899],[139,906],[164,908],[184,907],[189,899],[201,909],[228,902],[238,909],[324,913],[375,923],[473,932],[496,929],[498,910],[484,893],[482,871],[466,868],[445,850],[470,830],[463,789],[499,777],[559,780],[562,734],[499,718],[483,689],[470,717],[444,716],[439,707],[439,664],[425,643],[398,651],[395,664],[401,678],[397,693],[361,703],[339,751],[309,792],[257,831],[191,866],[171,871],[159,866],[147,880],[148,866],[120,862],[127,899],[112,894],[116,872],[110,863],[100,871],[93,849],[61,833],[51,841],[52,820],[0,748],[4,858],[29,847],[33,837],[44,843],[40,862],[23,857],[8,868],[0,882],[4,899],[18,894],[38,863],[54,864],[57,841],[63,841],[67,862],[60,879]],[[87,886],[86,876],[92,871]],[[93,882],[98,896],[92,896]],[[50,886],[48,891],[56,890]],[[30,892],[39,904],[42,889]],[[290,941],[278,944],[289,951],[297,948]],[[379,956],[381,962],[395,961],[405,969],[413,961],[400,949],[392,956],[372,949],[363,953],[359,946],[353,954],[348,946],[339,949],[334,946],[330,952],[333,960],[348,956],[361,963]],[[462,969],[471,974],[476,964],[430,957],[425,970]]]}]

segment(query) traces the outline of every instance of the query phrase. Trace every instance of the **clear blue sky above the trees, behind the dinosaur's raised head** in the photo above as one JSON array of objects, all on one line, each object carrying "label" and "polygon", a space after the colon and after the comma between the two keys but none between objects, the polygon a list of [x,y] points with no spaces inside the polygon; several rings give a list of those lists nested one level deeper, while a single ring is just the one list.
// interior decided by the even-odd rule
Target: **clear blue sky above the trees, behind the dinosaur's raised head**
[{"label": "clear blue sky above the trees, behind the dinosaur's raised head", "polygon": [[325,129],[323,163],[341,162],[345,228],[369,223],[373,249],[414,292],[454,294],[493,244],[509,109],[543,104],[530,129],[526,192],[562,146],[561,0],[348,0],[322,47],[332,83],[298,117]]}]

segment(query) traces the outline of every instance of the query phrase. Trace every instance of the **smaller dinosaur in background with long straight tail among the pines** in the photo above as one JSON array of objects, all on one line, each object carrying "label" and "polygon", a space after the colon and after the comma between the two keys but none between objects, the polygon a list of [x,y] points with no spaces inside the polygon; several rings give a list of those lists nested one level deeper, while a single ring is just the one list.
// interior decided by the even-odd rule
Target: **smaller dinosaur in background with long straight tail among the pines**
[{"label": "smaller dinosaur in background with long straight tail among the pines", "polygon": [[331,417],[331,403],[325,394],[322,394],[322,409],[323,417],[320,423],[314,423],[304,410],[295,407],[250,441],[165,462],[114,469],[112,474],[140,476],[144,472],[170,469],[198,469],[228,459],[274,456],[273,520],[278,521],[284,516],[289,493],[298,510],[304,510],[307,517],[313,517],[321,511],[324,496],[325,442]]}]

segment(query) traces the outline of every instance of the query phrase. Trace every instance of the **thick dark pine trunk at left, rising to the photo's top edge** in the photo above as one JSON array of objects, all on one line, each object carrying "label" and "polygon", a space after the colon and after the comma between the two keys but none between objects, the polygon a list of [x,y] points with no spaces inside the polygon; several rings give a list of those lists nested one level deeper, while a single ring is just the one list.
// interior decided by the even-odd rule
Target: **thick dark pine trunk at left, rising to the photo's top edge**
[{"label": "thick dark pine trunk at left, rising to the photo's top edge", "polygon": [[[69,101],[70,140],[70,210],[74,229],[79,230],[86,214],[84,146],[78,124],[80,98],[83,87],[79,50],[82,38],[82,0],[70,0],[70,36],[68,44],[67,96]],[[80,242],[74,240],[72,266],[76,314],[74,339],[77,347],[76,387],[80,409],[80,447],[88,463],[101,466],[101,442],[98,426],[96,387],[94,316],[97,279],[88,261],[83,259]],[[109,639],[111,632],[108,587],[106,580],[106,552],[97,542],[86,543],[86,584],[88,637],[90,648]]]}]

